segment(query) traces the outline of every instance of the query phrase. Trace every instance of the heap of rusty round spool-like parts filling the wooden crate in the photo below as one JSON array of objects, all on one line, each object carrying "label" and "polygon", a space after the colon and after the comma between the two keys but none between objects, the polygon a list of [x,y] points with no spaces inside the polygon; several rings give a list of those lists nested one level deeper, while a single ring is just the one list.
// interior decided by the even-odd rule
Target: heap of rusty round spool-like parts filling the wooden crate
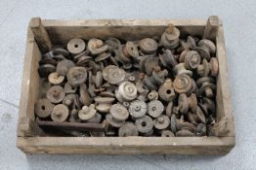
[{"label": "heap of rusty round spool-like parts filling the wooden crate", "polygon": [[[69,135],[226,133],[225,120],[215,123],[219,62],[211,40],[191,35],[181,38],[180,30],[170,23],[158,37],[130,41],[74,37],[65,47],[42,55],[38,72],[48,78],[51,87],[47,98],[36,103],[35,115],[56,124],[63,122],[57,125],[63,130],[72,126]],[[82,131],[91,133],[80,134],[75,125],[66,125],[69,122],[79,127],[89,124]],[[99,129],[104,123],[106,131],[94,133],[88,130],[90,123]]]}]

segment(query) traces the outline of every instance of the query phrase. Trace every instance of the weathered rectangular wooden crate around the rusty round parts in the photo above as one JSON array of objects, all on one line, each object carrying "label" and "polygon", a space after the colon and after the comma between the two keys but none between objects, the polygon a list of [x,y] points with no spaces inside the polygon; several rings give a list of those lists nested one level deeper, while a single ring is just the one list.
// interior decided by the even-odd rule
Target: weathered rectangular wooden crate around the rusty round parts
[{"label": "weathered rectangular wooden crate around the rusty round parts", "polygon": [[[51,137],[40,135],[35,123],[34,103],[39,98],[40,81],[37,69],[41,52],[53,45],[66,44],[72,38],[107,39],[116,37],[135,40],[159,36],[168,23],[181,30],[181,35],[199,35],[217,45],[219,76],[217,77],[218,137]],[[51,20],[39,17],[30,20],[23,66],[20,119],[17,147],[24,153],[98,153],[98,154],[226,154],[235,146],[235,127],[223,24],[218,17],[203,19],[101,19]]]}]

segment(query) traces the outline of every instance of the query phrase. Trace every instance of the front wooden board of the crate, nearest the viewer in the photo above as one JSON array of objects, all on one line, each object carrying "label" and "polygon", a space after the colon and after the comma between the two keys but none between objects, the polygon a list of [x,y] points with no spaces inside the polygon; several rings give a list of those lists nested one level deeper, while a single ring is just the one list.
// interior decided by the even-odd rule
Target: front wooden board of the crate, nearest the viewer
[{"label": "front wooden board of the crate, nearest the viewer", "polygon": [[235,137],[18,137],[24,153],[227,154]]}]

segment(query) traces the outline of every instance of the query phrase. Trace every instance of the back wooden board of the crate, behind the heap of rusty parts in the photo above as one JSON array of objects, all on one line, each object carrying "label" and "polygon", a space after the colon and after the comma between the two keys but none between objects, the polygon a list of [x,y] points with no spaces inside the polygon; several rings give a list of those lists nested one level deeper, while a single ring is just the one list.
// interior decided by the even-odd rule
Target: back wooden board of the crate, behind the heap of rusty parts
[{"label": "back wooden board of the crate, behind the heap of rusty parts", "polygon": [[138,40],[160,36],[168,23],[179,27],[182,35],[202,36],[205,20],[200,19],[100,19],[100,20],[49,20],[42,23],[53,44],[66,44],[72,38],[116,37],[121,40]]}]

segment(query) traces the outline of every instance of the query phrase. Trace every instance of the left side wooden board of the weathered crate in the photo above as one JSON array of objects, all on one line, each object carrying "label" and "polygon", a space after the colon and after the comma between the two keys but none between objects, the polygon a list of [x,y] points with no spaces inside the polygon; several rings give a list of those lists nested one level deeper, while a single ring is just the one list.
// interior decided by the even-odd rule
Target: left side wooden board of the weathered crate
[{"label": "left side wooden board of the weathered crate", "polygon": [[37,73],[40,51],[34,41],[30,28],[27,31],[24,55],[23,77],[21,83],[21,100],[18,123],[18,136],[32,136],[38,130],[34,120],[34,101],[39,95],[39,75]]}]

